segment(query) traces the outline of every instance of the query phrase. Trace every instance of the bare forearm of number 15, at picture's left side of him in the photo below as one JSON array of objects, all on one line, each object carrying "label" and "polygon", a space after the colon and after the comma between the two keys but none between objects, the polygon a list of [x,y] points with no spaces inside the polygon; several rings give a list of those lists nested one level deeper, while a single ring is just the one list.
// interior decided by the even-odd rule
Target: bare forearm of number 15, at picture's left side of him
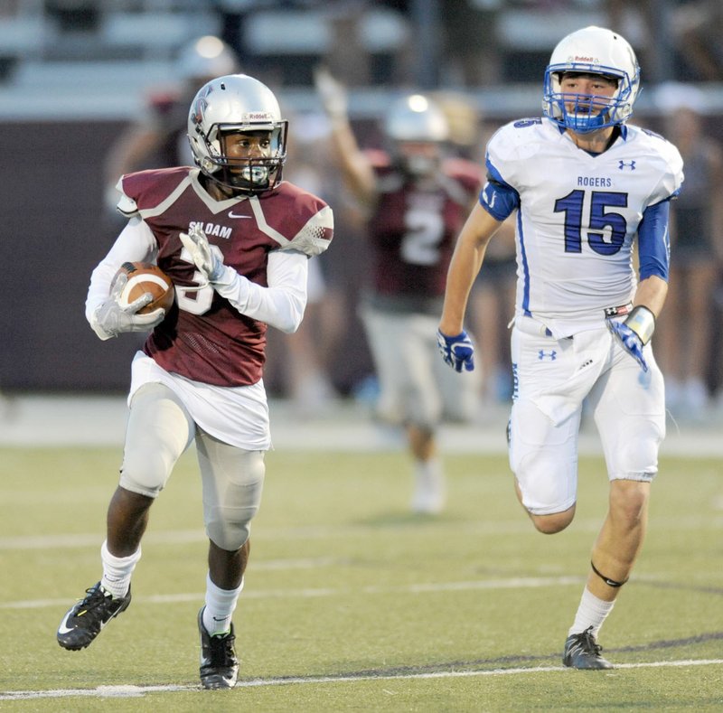
[{"label": "bare forearm of number 15, at picture's left side of him", "polygon": [[479,204],[474,206],[467,218],[447,272],[440,332],[453,335],[462,331],[467,301],[474,279],[482,267],[484,251],[501,224]]}]

